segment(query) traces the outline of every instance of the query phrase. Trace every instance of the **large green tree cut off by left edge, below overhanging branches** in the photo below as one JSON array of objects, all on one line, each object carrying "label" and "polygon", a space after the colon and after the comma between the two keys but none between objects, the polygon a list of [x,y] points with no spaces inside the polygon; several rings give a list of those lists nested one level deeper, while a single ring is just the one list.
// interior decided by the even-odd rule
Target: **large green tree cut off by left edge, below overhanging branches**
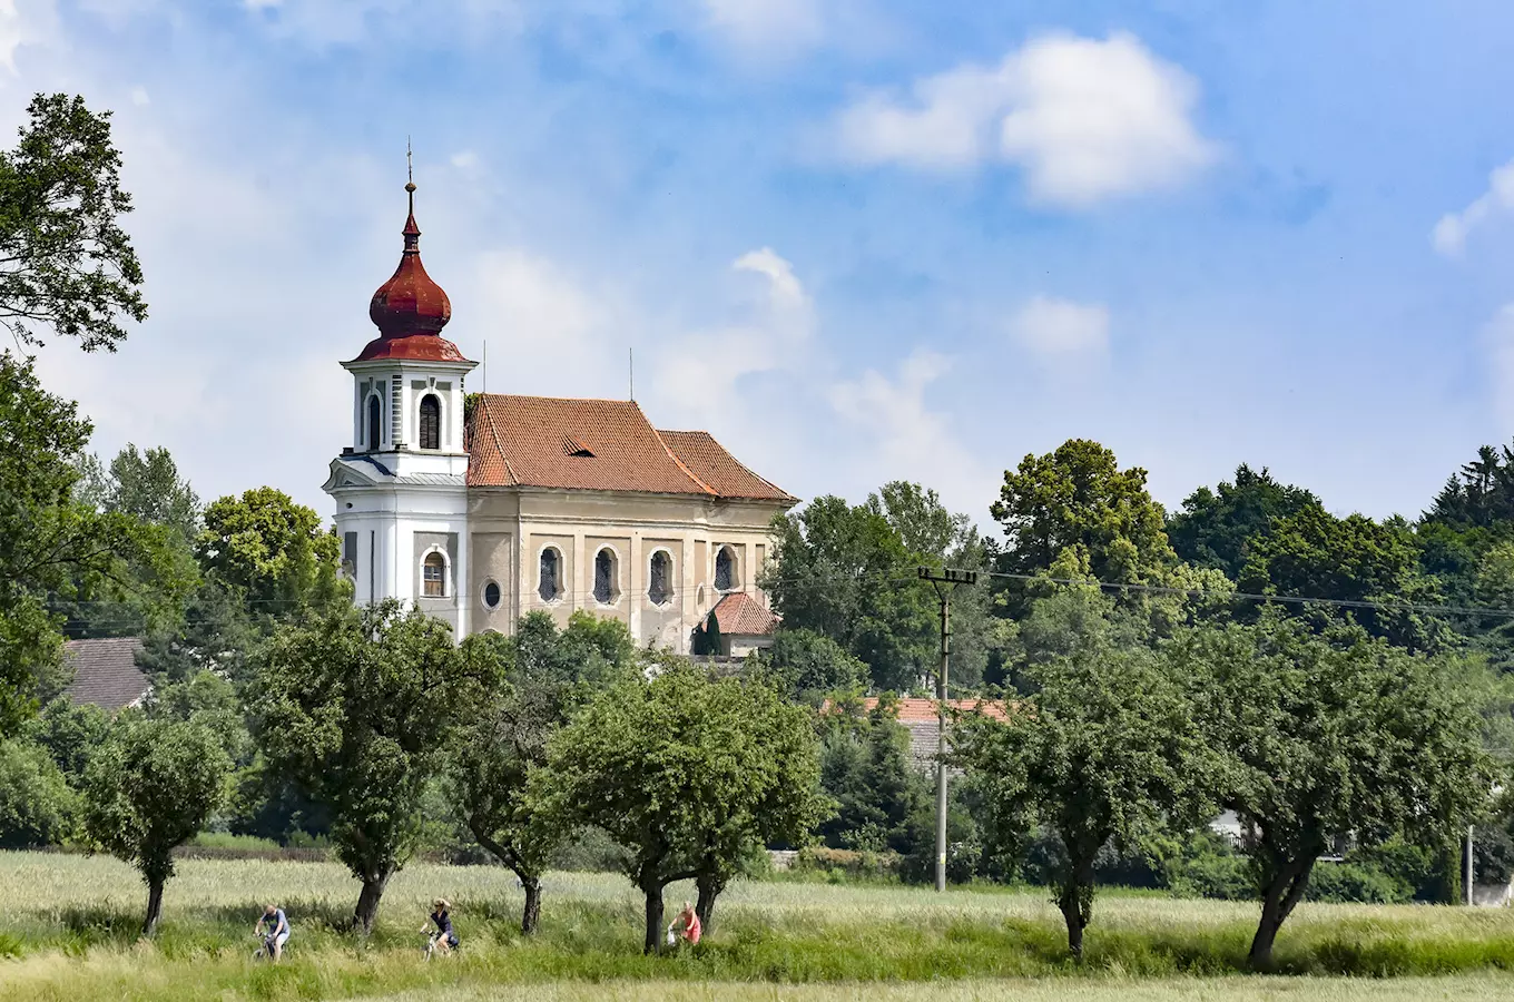
[{"label": "large green tree cut off by left edge, below overhanging branches", "polygon": [[186,584],[164,530],[74,498],[91,430],[76,404],[42,391],[30,360],[0,353],[0,736],[35,713],[36,681],[59,661],[50,604],[124,589],[133,565],[159,572],[154,602],[176,602]]}]

